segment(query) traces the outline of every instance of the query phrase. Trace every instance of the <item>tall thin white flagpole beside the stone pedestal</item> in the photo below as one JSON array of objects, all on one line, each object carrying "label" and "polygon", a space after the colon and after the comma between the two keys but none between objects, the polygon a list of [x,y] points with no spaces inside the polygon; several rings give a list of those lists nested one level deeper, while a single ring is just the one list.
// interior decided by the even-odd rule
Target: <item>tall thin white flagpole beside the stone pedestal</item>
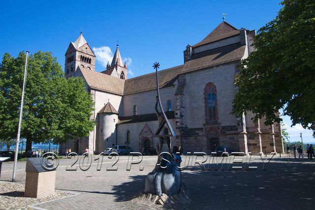
[{"label": "tall thin white flagpole beside the stone pedestal", "polygon": [[23,87],[22,87],[22,98],[21,98],[21,108],[20,108],[20,118],[19,118],[18,135],[16,137],[16,144],[15,144],[15,156],[14,156],[12,181],[15,181],[16,164],[17,164],[18,153],[19,153],[19,142],[20,142],[20,135],[21,135],[21,122],[22,122],[22,113],[23,113],[23,104],[24,104],[24,91],[25,91],[25,86],[26,86],[26,73],[27,73],[27,68],[28,68],[28,57],[29,57],[29,51],[26,51],[24,79],[23,79]]}]

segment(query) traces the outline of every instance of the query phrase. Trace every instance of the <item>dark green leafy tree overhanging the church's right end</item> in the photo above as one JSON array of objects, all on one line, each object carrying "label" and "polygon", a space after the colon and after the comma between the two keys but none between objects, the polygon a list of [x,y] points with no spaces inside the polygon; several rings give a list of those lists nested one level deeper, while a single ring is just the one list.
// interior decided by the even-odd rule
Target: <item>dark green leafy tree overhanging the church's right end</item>
[{"label": "dark green leafy tree overhanging the church's right end", "polygon": [[[284,0],[277,17],[258,31],[256,51],[241,62],[239,91],[233,113],[280,122],[278,112],[292,125],[315,130],[315,2]],[[314,132],[315,134],[315,132]]]}]

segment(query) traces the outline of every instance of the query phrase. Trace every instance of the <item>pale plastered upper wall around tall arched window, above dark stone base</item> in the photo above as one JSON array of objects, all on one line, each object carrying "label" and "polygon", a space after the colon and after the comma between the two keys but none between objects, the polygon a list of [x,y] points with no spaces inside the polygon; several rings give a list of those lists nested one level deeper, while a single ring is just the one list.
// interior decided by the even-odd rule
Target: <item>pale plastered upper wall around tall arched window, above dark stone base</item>
[{"label": "pale plastered upper wall around tall arched window, above dark stone base", "polygon": [[202,128],[205,123],[204,88],[212,82],[217,89],[218,121],[221,126],[237,125],[232,111],[235,96],[236,64],[221,65],[215,68],[194,71],[186,75],[185,85],[185,122],[189,128]]}]

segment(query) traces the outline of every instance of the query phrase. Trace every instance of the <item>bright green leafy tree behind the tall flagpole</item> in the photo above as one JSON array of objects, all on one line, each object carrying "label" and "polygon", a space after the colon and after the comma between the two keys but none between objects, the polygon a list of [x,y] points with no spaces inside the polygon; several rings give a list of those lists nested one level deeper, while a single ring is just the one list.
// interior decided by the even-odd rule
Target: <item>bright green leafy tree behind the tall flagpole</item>
[{"label": "bright green leafy tree behind the tall flagpole", "polygon": [[[5,53],[0,64],[0,140],[16,139],[26,55]],[[87,137],[94,128],[90,120],[92,97],[81,78],[65,79],[57,59],[37,52],[28,62],[21,138],[26,151],[32,142],[63,143],[74,136]]]}]

